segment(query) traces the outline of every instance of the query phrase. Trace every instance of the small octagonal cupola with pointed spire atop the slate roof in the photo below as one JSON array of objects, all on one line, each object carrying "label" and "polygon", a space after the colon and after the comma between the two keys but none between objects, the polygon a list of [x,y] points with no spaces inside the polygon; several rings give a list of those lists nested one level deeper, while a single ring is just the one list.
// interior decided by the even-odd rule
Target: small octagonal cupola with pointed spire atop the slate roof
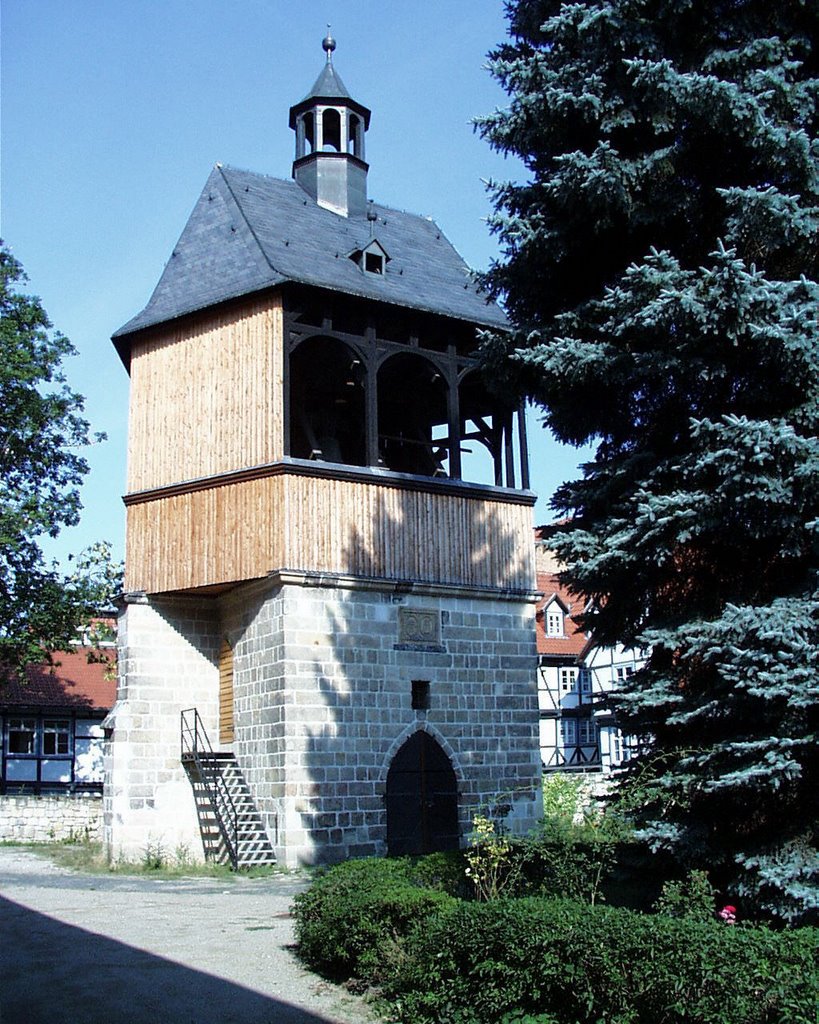
[{"label": "small octagonal cupola with pointed spire atop the slate roof", "polygon": [[327,62],[309,93],[290,109],[296,132],[293,177],[315,202],[344,217],[367,213],[364,133],[370,111],[347,91],[333,66],[336,40],[321,42]]}]

